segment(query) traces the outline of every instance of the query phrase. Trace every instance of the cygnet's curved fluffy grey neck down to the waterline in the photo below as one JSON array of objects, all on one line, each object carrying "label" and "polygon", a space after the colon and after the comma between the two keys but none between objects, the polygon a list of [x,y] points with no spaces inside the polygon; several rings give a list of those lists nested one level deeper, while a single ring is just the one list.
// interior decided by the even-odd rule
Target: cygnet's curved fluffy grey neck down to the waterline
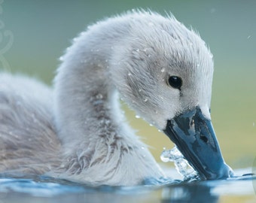
[{"label": "cygnet's curved fluffy grey neck down to the waterline", "polygon": [[[112,56],[129,35],[127,28],[123,20],[107,20],[82,33],[62,56],[54,81],[53,109],[63,149],[61,167],[89,182],[92,177],[99,183],[131,185],[145,177],[163,176],[145,144],[124,122],[115,83],[120,78],[111,80],[113,71],[122,68]],[[137,168],[140,170],[134,174]],[[90,171],[96,174],[92,176]]]}]

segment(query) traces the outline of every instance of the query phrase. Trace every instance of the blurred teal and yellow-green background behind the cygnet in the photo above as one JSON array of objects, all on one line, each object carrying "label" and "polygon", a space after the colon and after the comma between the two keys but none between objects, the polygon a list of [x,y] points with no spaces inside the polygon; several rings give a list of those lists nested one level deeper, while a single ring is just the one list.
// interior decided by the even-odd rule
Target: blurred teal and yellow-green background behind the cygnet
[{"label": "blurred teal and yellow-green background behind the cygnet", "polygon": [[[1,2],[1,1],[0,1]],[[233,168],[251,168],[256,156],[256,1],[41,1],[5,0],[0,20],[1,47],[14,42],[4,53],[8,71],[38,77],[51,84],[58,58],[72,38],[88,24],[133,8],[172,12],[192,26],[209,44],[215,60],[212,121],[226,162]],[[0,50],[1,50],[0,47]],[[2,64],[1,68],[2,68]],[[0,81],[1,82],[1,81]],[[124,106],[126,109],[126,106]],[[160,162],[163,147],[172,143],[126,109],[131,125],[138,129]]]}]

